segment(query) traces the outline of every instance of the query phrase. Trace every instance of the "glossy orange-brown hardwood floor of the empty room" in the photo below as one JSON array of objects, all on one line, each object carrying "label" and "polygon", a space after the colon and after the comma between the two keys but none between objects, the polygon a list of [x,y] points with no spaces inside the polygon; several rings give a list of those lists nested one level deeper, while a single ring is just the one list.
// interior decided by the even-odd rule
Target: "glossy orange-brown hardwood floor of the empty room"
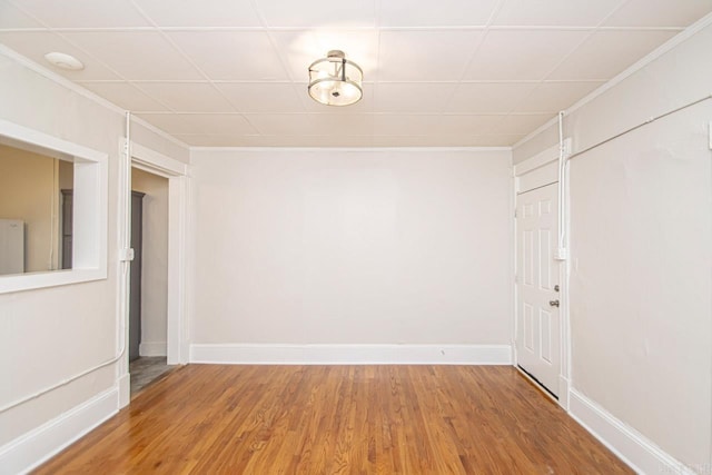
[{"label": "glossy orange-brown hardwood floor of the empty room", "polygon": [[633,472],[508,366],[190,365],[36,473]]}]

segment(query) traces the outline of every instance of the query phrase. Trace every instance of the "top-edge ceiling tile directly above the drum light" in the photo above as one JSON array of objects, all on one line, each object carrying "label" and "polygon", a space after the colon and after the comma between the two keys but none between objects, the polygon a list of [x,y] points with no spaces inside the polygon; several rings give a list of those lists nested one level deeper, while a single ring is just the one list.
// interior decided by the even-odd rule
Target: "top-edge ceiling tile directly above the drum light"
[{"label": "top-edge ceiling tile directly above the drum light", "polygon": [[330,0],[257,0],[270,27],[352,28],[375,27],[373,1],[353,1],[335,4]]}]

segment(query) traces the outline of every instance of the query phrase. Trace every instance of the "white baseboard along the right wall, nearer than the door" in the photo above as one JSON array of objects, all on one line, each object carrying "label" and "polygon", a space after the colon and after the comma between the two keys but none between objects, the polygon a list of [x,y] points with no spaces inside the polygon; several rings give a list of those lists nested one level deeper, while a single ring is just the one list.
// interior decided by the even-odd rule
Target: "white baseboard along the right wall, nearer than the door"
[{"label": "white baseboard along the right wall, nearer than the door", "polygon": [[568,413],[640,474],[695,475],[685,464],[676,461],[576,389],[570,392]]}]

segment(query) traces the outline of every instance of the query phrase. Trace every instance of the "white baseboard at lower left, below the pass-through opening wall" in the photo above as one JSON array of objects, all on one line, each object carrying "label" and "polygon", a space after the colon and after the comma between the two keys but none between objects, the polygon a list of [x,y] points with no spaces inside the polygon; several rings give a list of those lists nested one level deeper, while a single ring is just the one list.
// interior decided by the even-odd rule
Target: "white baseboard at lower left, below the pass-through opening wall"
[{"label": "white baseboard at lower left, below the pass-through opening wall", "polygon": [[113,416],[118,409],[115,386],[40,427],[0,447],[0,473],[27,473]]}]

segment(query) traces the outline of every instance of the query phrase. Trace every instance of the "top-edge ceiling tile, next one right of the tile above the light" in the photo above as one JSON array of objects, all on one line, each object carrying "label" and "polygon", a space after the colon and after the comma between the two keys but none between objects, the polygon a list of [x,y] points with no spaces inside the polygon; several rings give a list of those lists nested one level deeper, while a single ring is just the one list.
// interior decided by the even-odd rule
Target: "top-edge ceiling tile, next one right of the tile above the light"
[{"label": "top-edge ceiling tile, next one right of the tile above the light", "polygon": [[439,0],[421,2],[414,8],[412,0],[380,2],[380,27],[452,27],[485,26],[498,0]]}]

